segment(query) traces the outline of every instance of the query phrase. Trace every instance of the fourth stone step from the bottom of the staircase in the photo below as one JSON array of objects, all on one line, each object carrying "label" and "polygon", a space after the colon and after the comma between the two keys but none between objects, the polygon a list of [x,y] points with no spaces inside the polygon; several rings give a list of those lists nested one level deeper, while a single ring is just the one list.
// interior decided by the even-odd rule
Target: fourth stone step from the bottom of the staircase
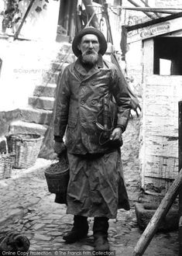
[{"label": "fourth stone step from the bottom of the staircase", "polygon": [[57,84],[36,85],[33,96],[54,97]]}]

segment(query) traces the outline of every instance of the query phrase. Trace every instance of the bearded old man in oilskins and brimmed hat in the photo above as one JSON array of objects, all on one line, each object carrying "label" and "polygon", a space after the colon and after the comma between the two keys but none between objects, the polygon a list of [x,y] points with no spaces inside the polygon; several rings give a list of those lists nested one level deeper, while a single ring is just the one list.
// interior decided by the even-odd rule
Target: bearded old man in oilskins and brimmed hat
[{"label": "bearded old man in oilskins and brimmed hat", "polygon": [[129,209],[122,175],[120,147],[129,120],[131,99],[117,67],[105,61],[105,36],[93,27],[74,37],[77,61],[64,69],[59,81],[54,122],[54,150],[67,147],[70,181],[67,213],[74,215],[64,235],[74,243],[88,234],[94,218],[94,250],[109,251],[108,220],[118,208]]}]

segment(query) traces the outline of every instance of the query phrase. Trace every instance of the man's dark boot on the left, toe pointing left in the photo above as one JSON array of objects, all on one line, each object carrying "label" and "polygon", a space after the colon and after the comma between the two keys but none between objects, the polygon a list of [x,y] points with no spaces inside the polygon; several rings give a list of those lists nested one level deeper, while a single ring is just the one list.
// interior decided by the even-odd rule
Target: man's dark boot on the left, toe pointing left
[{"label": "man's dark boot on the left, toe pointing left", "polygon": [[64,235],[63,239],[67,244],[72,244],[88,234],[88,218],[84,216],[74,216],[74,227]]}]

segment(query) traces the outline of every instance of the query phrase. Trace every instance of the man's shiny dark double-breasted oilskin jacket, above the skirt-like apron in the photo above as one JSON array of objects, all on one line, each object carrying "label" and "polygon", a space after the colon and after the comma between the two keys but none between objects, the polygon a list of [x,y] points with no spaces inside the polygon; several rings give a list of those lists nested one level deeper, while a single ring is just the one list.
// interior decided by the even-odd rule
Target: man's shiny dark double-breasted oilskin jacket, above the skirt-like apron
[{"label": "man's shiny dark double-breasted oilskin jacket, above the skirt-like apron", "polygon": [[64,69],[57,94],[54,136],[64,137],[70,154],[105,153],[118,147],[101,145],[101,130],[96,126],[102,99],[112,95],[117,105],[115,126],[125,130],[129,120],[131,98],[115,64],[103,61],[86,71],[78,58]]}]

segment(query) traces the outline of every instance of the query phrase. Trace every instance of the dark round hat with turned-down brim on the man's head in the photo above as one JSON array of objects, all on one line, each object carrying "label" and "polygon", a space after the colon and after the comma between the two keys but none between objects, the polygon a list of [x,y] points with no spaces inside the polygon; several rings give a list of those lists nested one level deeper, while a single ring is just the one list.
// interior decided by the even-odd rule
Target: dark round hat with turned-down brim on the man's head
[{"label": "dark round hat with turned-down brim on the man's head", "polygon": [[100,43],[100,50],[98,51],[98,53],[104,55],[108,47],[105,36],[103,35],[103,33],[101,33],[100,30],[95,29],[93,26],[88,26],[87,28],[82,29],[77,33],[76,36],[74,36],[74,40],[72,43],[72,50],[74,52],[74,55],[76,55],[77,57],[81,55],[81,50],[78,50],[77,46],[79,43],[81,43],[81,38],[87,34],[94,34],[95,36],[98,36],[98,41]]}]

